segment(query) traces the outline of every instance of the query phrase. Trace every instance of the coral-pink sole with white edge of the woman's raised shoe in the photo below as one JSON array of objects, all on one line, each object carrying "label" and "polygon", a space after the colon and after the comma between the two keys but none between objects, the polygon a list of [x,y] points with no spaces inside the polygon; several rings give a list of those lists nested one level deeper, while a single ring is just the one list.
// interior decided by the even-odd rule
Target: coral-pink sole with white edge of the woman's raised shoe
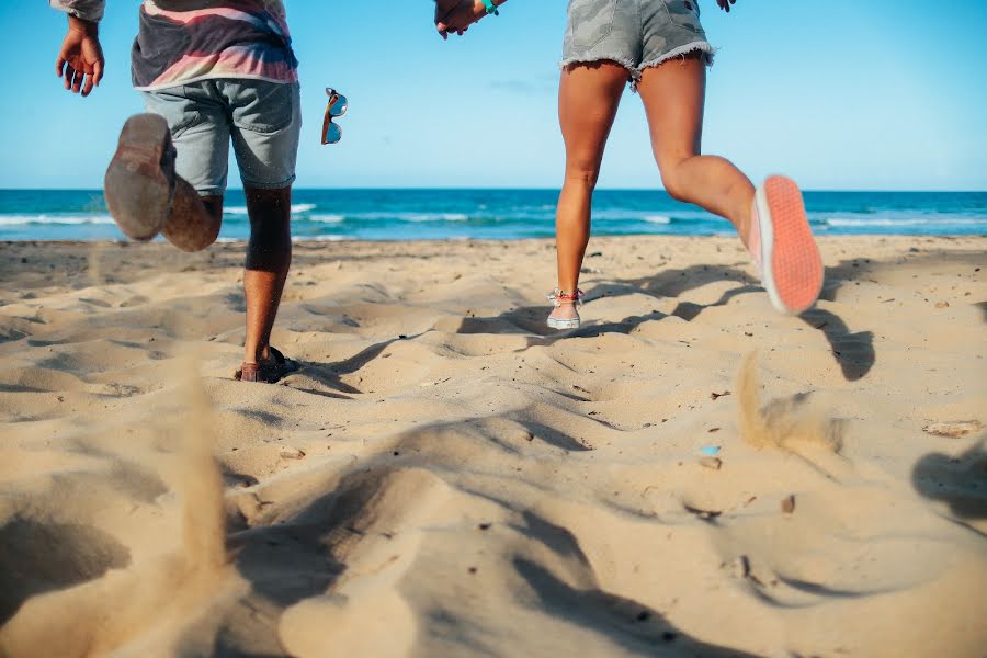
[{"label": "coral-pink sole with white edge of the woman's raised shoe", "polygon": [[779,311],[798,315],[819,298],[822,259],[809,229],[798,185],[770,177],[757,193],[762,283]]}]

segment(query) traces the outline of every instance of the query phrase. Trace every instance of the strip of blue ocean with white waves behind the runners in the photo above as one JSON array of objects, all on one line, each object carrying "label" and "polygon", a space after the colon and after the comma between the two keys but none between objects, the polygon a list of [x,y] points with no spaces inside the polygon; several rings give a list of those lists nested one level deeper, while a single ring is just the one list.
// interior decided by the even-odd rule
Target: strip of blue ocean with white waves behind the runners
[{"label": "strip of blue ocean with white waves behind the runners", "polygon": [[[296,190],[299,240],[547,238],[554,190]],[[827,235],[987,235],[985,192],[806,192],[813,229]],[[249,232],[241,191],[230,191],[220,240]],[[731,235],[730,225],[660,191],[598,191],[593,234]],[[0,190],[0,240],[116,240],[102,192]]]}]

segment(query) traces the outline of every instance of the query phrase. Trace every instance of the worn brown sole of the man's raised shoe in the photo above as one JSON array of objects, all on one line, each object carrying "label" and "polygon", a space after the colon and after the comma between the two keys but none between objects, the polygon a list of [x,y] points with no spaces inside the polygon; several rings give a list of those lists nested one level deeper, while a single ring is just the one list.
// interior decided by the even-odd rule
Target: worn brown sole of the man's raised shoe
[{"label": "worn brown sole of the man's raised shoe", "polygon": [[163,117],[137,114],[127,120],[106,169],[103,193],[110,215],[128,238],[150,240],[168,220],[173,194],[164,172],[168,158],[173,154]]}]

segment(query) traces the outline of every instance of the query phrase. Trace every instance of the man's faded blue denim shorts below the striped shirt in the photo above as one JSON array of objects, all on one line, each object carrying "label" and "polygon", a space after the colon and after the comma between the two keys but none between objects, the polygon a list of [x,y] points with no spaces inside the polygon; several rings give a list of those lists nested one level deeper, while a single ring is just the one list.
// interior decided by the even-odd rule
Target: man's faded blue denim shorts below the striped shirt
[{"label": "man's faded blue denim shorts below the striped shirt", "polygon": [[143,93],[147,111],[168,121],[178,174],[201,195],[226,191],[230,140],[245,186],[280,190],[295,181],[297,82],[211,79]]}]

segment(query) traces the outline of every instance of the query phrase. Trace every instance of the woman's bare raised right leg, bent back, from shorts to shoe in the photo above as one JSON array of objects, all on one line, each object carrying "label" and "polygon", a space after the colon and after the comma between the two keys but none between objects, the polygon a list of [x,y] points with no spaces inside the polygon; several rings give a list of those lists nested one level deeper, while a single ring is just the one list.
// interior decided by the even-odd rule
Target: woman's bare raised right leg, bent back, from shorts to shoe
[{"label": "woman's bare raised right leg, bent back, from shorts to shoe", "polygon": [[672,198],[729,219],[746,245],[755,188],[729,160],[701,155],[705,54],[692,53],[644,69],[637,90],[666,191]]}]

